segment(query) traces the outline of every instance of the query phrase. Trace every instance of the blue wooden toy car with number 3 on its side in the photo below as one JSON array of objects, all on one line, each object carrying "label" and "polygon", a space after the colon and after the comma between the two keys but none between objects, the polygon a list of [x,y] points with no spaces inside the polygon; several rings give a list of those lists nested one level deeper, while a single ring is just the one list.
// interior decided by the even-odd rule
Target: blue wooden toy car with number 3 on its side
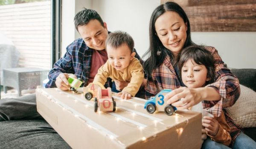
[{"label": "blue wooden toy car with number 3 on its side", "polygon": [[144,109],[146,109],[149,113],[154,113],[157,110],[164,111],[167,115],[172,115],[177,108],[171,104],[166,104],[166,101],[163,100],[164,96],[171,91],[172,90],[168,89],[161,90],[156,96],[151,97],[145,102]]}]

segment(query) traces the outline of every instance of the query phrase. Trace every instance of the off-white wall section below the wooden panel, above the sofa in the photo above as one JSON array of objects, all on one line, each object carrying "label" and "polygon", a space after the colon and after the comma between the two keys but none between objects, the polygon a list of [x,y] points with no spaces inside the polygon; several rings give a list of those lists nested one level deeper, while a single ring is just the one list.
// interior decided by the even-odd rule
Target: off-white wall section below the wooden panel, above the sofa
[{"label": "off-white wall section below the wooden panel, above the sofa", "polygon": [[232,68],[256,68],[256,32],[192,32],[197,44],[213,46]]}]

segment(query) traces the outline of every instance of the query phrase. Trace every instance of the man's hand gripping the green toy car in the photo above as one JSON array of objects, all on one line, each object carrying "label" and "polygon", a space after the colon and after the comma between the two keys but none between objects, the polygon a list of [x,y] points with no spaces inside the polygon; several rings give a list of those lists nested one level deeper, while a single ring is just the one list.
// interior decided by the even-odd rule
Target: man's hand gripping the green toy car
[{"label": "man's hand gripping the green toy car", "polygon": [[70,86],[67,82],[67,78],[69,76],[73,76],[74,78],[76,78],[76,76],[72,73],[60,73],[55,81],[56,86],[61,90],[69,90]]}]

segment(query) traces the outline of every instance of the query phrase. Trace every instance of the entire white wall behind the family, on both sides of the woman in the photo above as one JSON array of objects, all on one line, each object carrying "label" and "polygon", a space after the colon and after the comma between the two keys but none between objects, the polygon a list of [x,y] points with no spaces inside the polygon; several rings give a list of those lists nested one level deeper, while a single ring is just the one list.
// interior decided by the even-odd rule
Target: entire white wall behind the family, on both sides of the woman
[{"label": "entire white wall behind the family, on both sides of the woman", "polygon": [[[72,1],[67,3],[73,3]],[[150,16],[154,8],[159,5],[160,0],[76,0],[74,12],[91,6],[107,23],[109,31],[123,30],[131,34],[135,48],[142,56],[149,46]],[[71,6],[68,4],[69,11],[67,9],[63,11],[70,13],[70,8],[73,7]],[[75,13],[72,15],[66,23],[71,22],[73,25]],[[74,26],[71,27],[71,25],[62,30],[62,34],[65,34],[62,37],[68,38],[68,42],[62,43],[65,48],[75,38],[80,37],[74,30]],[[69,31],[72,33],[68,33]],[[256,32],[192,32],[192,40],[198,44],[215,47],[228,67],[256,68]]]}]

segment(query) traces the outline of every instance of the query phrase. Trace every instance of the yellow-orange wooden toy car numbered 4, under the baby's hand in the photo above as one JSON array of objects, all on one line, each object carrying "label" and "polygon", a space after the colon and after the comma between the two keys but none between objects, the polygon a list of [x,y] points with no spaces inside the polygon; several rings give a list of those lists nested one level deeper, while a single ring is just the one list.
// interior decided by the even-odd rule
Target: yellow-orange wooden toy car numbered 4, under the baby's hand
[{"label": "yellow-orange wooden toy car numbered 4, under the baby's hand", "polygon": [[89,83],[87,87],[83,88],[84,98],[91,100],[91,98],[97,98],[98,88],[105,89],[104,86],[99,84]]}]

